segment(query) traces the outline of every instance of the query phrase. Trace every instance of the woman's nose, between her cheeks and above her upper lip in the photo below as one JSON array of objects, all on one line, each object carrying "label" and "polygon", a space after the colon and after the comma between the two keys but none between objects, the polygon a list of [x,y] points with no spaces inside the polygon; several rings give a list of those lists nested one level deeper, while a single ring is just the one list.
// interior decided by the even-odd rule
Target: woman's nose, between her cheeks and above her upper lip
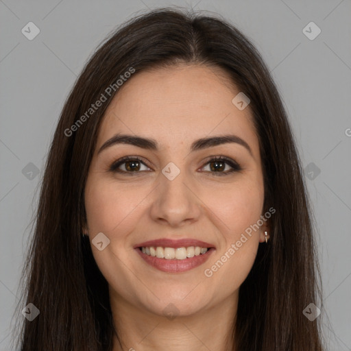
[{"label": "woman's nose, between her cheeks and above her upper lip", "polygon": [[160,174],[160,184],[155,190],[150,212],[154,221],[177,228],[199,219],[201,200],[184,174],[180,172],[173,180]]}]

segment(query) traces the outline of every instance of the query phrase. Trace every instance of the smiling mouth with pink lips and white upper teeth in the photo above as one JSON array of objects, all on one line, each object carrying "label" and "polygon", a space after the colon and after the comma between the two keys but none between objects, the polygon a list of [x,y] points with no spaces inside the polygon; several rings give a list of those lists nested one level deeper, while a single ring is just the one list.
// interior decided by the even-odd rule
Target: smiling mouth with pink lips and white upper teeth
[{"label": "smiling mouth with pink lips and white upper teeth", "polygon": [[208,260],[215,247],[204,241],[160,239],[136,245],[145,263],[167,273],[189,271]]}]

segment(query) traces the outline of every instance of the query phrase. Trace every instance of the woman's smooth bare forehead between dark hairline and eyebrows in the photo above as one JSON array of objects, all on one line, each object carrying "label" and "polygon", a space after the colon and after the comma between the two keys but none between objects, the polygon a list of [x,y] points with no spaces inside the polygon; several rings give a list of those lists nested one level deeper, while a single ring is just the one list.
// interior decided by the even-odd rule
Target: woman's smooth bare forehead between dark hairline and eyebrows
[{"label": "woman's smooth bare forehead between dark hairline and eyebrows", "polygon": [[258,157],[258,138],[250,108],[232,99],[240,90],[217,67],[171,66],[141,71],[125,82],[108,106],[97,147],[114,134],[154,138],[160,149],[197,138],[236,134]]}]

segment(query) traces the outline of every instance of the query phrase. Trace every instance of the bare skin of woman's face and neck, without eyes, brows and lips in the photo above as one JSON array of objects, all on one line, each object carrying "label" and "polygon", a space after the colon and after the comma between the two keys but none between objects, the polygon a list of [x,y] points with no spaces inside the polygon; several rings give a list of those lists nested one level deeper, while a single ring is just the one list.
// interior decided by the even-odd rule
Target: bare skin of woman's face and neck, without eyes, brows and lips
[{"label": "bare skin of woman's face and neck, without eyes, brows and lips", "polygon": [[[122,343],[121,348],[114,337],[114,351],[232,350],[228,337],[239,287],[265,241],[265,230],[269,233],[265,221],[213,276],[204,275],[264,215],[263,172],[250,105],[239,110],[232,104],[239,91],[217,67],[178,65],[136,73],[106,110],[86,182],[84,230],[90,243],[99,232],[110,239],[102,251],[91,247],[109,284]],[[97,154],[119,132],[154,138],[158,150],[119,144]],[[252,155],[238,143],[190,153],[195,139],[223,134],[243,138]],[[135,175],[109,171],[124,156],[139,156],[145,165]],[[216,176],[210,156],[232,158],[243,170]],[[174,180],[162,173],[169,162],[180,169]],[[230,169],[226,164],[219,172]],[[147,265],[133,249],[165,237],[199,239],[215,251],[203,265],[169,274]],[[169,304],[177,308],[172,319],[164,313]]]}]

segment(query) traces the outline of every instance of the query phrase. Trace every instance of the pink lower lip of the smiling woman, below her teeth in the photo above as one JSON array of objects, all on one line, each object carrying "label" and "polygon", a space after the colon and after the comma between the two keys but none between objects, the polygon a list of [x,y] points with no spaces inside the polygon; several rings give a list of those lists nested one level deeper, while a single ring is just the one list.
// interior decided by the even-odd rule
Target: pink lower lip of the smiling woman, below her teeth
[{"label": "pink lower lip of the smiling woman, below her teeth", "polygon": [[205,254],[199,254],[199,256],[185,258],[184,260],[166,260],[165,258],[158,258],[143,254],[140,248],[136,248],[135,250],[146,263],[152,265],[160,271],[166,271],[167,273],[182,273],[183,271],[190,271],[191,269],[206,262],[210,257],[210,254],[212,254],[214,251],[213,247],[211,247]]}]

